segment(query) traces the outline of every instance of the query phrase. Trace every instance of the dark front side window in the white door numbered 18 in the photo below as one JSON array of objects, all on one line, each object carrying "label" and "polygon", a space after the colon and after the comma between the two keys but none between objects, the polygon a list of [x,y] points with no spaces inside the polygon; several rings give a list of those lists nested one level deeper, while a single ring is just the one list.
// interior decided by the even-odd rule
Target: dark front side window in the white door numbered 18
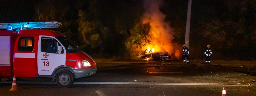
[{"label": "dark front side window in the white door numbered 18", "polygon": [[[41,38],[41,52],[57,53],[57,48],[60,44],[53,38],[42,37]],[[63,49],[62,49],[63,50]]]}]

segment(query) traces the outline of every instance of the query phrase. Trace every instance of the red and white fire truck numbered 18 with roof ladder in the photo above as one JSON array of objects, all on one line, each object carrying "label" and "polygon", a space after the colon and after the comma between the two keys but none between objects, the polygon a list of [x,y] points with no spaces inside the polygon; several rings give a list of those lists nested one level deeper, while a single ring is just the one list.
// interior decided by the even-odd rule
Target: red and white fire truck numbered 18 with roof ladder
[{"label": "red and white fire truck numbered 18 with roof ladder", "polygon": [[69,87],[75,78],[94,75],[97,67],[92,57],[62,33],[41,29],[60,25],[56,21],[0,23],[0,78],[48,77],[60,87]]}]

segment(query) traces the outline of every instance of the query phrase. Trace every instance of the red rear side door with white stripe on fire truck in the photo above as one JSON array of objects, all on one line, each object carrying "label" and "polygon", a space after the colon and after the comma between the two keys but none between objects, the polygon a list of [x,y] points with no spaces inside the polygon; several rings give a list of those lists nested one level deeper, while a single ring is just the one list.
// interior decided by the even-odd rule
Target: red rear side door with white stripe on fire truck
[{"label": "red rear side door with white stripe on fire truck", "polygon": [[19,36],[14,45],[13,72],[17,77],[35,77],[37,36]]}]

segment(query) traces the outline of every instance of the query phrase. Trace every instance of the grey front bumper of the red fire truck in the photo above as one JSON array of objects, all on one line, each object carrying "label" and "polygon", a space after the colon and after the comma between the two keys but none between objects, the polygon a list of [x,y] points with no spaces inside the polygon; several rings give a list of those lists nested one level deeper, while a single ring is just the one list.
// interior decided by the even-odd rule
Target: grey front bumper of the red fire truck
[{"label": "grey front bumper of the red fire truck", "polygon": [[74,69],[73,70],[76,75],[76,79],[82,78],[82,77],[88,77],[96,74],[97,72],[97,67],[93,68],[84,68],[84,69]]}]

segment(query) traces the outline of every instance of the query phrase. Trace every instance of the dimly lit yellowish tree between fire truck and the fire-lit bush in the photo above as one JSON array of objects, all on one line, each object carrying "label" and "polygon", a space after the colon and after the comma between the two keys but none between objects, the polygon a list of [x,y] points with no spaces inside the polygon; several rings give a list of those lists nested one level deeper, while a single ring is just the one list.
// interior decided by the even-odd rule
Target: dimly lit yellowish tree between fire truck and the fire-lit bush
[{"label": "dimly lit yellowish tree between fire truck and the fire-lit bush", "polygon": [[94,49],[100,46],[100,57],[102,55],[102,52],[104,51],[103,46],[105,43],[104,41],[107,38],[108,35],[108,27],[104,27],[99,22],[93,22],[86,20],[85,12],[79,11],[78,12],[79,19],[77,20],[78,23],[78,31],[82,35],[83,39],[83,46],[82,49],[85,47],[88,47],[90,45],[90,48]]}]

